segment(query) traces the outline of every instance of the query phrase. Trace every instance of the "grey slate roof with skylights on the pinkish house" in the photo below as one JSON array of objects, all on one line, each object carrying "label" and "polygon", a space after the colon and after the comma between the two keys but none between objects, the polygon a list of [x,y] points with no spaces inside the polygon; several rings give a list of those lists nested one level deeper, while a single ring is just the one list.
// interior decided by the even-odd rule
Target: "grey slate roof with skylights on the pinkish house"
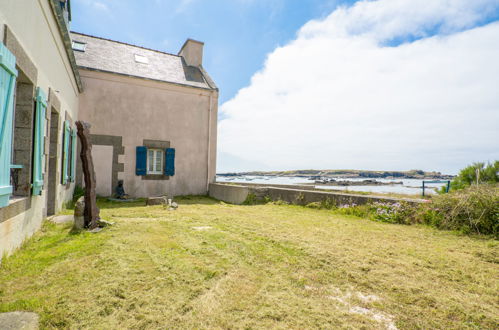
[{"label": "grey slate roof with skylights on the pinkish house", "polygon": [[[202,68],[186,65],[181,56],[76,32],[71,32],[71,38],[86,43],[84,52],[74,51],[80,68],[216,89]],[[148,63],[137,62],[135,55]]]}]

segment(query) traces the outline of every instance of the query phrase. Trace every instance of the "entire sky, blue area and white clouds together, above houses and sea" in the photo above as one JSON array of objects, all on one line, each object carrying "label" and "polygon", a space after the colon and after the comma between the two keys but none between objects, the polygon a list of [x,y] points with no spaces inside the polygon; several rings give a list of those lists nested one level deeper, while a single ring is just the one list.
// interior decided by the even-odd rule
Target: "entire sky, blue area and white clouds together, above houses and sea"
[{"label": "entire sky, blue area and white clouds together, above houses and sea", "polygon": [[73,0],[72,30],[204,41],[219,173],[499,159],[499,0]]}]

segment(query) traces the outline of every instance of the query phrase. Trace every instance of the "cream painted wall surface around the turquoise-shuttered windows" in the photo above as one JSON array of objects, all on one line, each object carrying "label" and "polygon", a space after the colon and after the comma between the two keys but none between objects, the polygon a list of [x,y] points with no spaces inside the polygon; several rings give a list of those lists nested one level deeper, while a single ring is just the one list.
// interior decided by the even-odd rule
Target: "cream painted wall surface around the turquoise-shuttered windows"
[{"label": "cream painted wall surface around the turquoise-shuttered windows", "polygon": [[[68,112],[71,118],[77,119],[79,92],[49,0],[0,0],[1,41],[3,41],[4,24],[9,26],[37,67],[36,86],[41,87],[46,93],[49,88],[58,91],[57,96],[61,101],[60,120],[64,119],[65,112]],[[62,132],[59,134],[62,136]],[[61,136],[60,141],[62,141]],[[59,158],[61,149],[62,145],[59,144],[57,147]],[[60,172],[60,161],[57,162],[57,166]],[[65,201],[72,198],[73,188],[74,185],[69,189],[57,185],[57,210],[61,209]],[[0,259],[4,254],[10,254],[40,228],[46,197],[45,187],[41,196],[31,197],[31,208],[28,211],[0,223]]]}]

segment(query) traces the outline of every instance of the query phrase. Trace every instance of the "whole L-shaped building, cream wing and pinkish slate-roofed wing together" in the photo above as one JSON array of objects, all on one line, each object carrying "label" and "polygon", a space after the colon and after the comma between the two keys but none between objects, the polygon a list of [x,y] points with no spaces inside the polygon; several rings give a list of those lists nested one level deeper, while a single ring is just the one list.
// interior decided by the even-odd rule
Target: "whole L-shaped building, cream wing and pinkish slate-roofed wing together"
[{"label": "whole L-shaped building, cream wing and pinkish slate-roofed wing together", "polygon": [[92,125],[100,195],[118,180],[132,197],[206,194],[215,178],[203,43],[172,55],[70,34],[70,21],[69,0],[0,0],[0,259],[82,184],[78,119]]}]

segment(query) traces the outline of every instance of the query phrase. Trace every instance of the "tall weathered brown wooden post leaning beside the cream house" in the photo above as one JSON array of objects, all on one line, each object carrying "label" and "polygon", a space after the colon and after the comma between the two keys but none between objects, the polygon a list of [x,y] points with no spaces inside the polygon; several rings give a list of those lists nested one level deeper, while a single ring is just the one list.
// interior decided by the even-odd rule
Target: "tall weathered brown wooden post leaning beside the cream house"
[{"label": "tall weathered brown wooden post leaning beside the cream house", "polygon": [[95,194],[95,171],[92,160],[92,143],[90,142],[90,124],[84,121],[77,121],[78,137],[81,142],[81,163],[83,168],[83,178],[85,180],[85,227],[96,228],[99,223],[99,209]]}]

